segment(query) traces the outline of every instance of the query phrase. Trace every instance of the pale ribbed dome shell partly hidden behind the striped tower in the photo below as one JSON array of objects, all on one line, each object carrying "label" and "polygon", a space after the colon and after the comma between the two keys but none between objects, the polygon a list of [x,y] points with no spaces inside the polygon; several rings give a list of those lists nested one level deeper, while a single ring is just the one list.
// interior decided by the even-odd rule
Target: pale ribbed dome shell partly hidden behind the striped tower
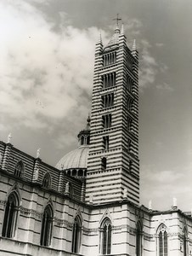
[{"label": "pale ribbed dome shell partly hidden behind the striped tower", "polygon": [[86,169],[88,165],[88,149],[88,145],[82,145],[70,153],[65,154],[57,163],[56,168],[59,170]]}]

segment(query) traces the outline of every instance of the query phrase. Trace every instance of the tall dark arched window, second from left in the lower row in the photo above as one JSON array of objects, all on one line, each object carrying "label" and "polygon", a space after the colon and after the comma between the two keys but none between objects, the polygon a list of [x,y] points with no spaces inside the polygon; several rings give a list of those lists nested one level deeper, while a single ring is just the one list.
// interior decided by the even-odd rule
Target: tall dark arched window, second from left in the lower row
[{"label": "tall dark arched window, second from left in the lower row", "polygon": [[53,209],[50,205],[45,207],[42,215],[42,231],[40,244],[48,247],[51,243],[52,226],[53,226]]}]

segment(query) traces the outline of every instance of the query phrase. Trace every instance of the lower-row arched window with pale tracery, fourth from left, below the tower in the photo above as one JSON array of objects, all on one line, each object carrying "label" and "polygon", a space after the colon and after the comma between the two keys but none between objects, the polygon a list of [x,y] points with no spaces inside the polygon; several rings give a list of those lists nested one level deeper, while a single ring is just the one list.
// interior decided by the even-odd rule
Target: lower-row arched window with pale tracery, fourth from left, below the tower
[{"label": "lower-row arched window with pale tracery, fourth from left, below the tower", "polygon": [[111,222],[109,218],[105,218],[103,224],[101,226],[101,237],[100,237],[100,245],[101,245],[101,253],[102,254],[110,254],[111,252]]}]

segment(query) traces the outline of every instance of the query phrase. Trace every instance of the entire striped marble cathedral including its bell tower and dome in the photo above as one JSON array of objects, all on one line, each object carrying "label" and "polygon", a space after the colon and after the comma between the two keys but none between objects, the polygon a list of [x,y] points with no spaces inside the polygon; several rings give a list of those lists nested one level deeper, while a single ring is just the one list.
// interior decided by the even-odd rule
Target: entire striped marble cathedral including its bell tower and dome
[{"label": "entire striped marble cathedral including its bell tower and dome", "polygon": [[0,255],[189,256],[191,212],[139,204],[138,49],[117,24],[95,47],[91,114],[49,166],[0,142]]}]

